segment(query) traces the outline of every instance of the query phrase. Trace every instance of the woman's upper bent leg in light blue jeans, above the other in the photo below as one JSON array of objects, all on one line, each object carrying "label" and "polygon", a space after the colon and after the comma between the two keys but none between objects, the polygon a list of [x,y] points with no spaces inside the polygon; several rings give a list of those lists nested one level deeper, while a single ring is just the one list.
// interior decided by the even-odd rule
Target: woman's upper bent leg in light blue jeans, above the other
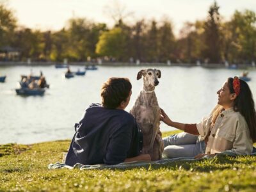
[{"label": "woman's upper bent leg in light blue jeans, above the other", "polygon": [[189,134],[188,132],[180,132],[163,138],[164,147],[168,145],[190,145],[196,144],[198,136]]}]

